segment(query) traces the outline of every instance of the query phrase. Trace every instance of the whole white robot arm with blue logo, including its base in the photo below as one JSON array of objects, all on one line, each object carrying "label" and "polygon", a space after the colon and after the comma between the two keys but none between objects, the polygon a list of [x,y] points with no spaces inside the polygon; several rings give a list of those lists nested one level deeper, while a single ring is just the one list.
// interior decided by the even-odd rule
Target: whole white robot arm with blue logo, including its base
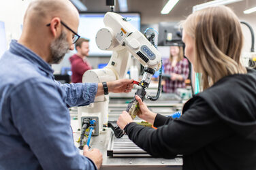
[{"label": "whole white robot arm with blue logo, including its base", "polygon": [[[143,90],[148,87],[150,80],[161,67],[161,54],[126,18],[114,12],[108,12],[103,19],[105,28],[100,29],[96,35],[96,43],[101,50],[112,50],[112,56],[106,67],[86,71],[82,82],[109,82],[123,79],[129,68],[129,61],[133,55],[143,66],[144,75],[140,82]],[[146,92],[142,92],[145,93]],[[78,118],[99,117],[99,131],[103,124],[108,122],[108,95],[95,98],[94,103],[78,108]],[[80,124],[82,126],[82,124]]]}]

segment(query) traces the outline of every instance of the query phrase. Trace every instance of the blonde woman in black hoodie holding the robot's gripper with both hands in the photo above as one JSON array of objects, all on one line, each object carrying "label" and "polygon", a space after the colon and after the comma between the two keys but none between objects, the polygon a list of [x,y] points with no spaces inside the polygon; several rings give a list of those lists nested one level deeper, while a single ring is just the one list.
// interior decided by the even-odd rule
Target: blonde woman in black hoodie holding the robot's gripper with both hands
[{"label": "blonde woman in black hoodie holding the robot's gripper with both hands", "polygon": [[185,56],[202,73],[203,92],[178,119],[150,112],[140,97],[140,126],[127,112],[118,126],[154,157],[183,154],[183,169],[256,169],[256,72],[240,63],[240,22],[228,7],[208,7],[183,23]]}]

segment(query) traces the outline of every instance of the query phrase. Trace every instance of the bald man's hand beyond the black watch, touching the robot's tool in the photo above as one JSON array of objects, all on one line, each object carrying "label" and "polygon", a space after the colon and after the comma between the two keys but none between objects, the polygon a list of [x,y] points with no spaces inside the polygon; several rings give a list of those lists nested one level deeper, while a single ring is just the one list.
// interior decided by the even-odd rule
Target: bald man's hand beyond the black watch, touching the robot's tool
[{"label": "bald man's hand beyond the black watch, touching the robot's tool", "polygon": [[122,79],[113,82],[107,82],[109,92],[131,92],[133,80]]}]

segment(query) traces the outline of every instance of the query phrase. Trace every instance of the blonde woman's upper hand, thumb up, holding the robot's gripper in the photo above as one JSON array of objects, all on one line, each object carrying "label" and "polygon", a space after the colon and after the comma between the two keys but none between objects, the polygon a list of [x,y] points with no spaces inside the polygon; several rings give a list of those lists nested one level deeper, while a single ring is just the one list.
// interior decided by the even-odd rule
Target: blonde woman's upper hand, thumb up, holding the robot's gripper
[{"label": "blonde woman's upper hand, thumb up, holding the robot's gripper", "polygon": [[151,124],[154,124],[155,116],[157,116],[157,114],[151,112],[138,95],[135,95],[135,98],[140,105],[140,113],[137,114],[137,116],[139,116],[139,118],[142,118],[143,120],[146,120],[147,122],[150,122]]}]

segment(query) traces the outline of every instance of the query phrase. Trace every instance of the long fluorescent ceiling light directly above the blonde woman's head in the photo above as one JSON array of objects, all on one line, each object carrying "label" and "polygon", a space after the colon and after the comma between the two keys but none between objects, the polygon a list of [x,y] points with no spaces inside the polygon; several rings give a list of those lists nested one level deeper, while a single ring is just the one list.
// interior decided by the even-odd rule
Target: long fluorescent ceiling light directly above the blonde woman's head
[{"label": "long fluorescent ceiling light directly above the blonde woman's head", "polygon": [[227,5],[229,3],[235,3],[238,1],[244,1],[244,0],[215,0],[215,1],[210,1],[210,2],[206,2],[206,3],[202,3],[199,5],[195,5],[193,6],[193,12],[198,11],[198,10],[202,10],[206,7],[212,7],[212,6],[218,6],[218,5]]}]

